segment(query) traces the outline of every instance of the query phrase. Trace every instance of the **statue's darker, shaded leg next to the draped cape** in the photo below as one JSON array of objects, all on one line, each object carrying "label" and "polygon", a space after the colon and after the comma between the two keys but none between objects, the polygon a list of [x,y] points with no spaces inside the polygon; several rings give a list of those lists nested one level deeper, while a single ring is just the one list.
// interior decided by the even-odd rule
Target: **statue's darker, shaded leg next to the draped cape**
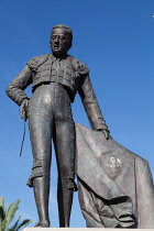
[{"label": "statue's darker, shaded leg next to the draped cape", "polygon": [[[59,94],[61,98],[61,94]],[[67,97],[68,98],[68,97]],[[75,127],[69,100],[61,98],[55,117],[55,151],[58,167],[57,202],[59,227],[69,227],[73,194],[75,190]]]}]

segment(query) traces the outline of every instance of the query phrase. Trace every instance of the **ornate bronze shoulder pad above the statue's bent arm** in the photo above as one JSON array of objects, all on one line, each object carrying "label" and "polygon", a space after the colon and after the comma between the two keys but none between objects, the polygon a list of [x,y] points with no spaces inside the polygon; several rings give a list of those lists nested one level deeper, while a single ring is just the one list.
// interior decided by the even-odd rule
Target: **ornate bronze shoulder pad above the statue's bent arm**
[{"label": "ornate bronze shoulder pad above the statue's bent arm", "polygon": [[48,56],[50,54],[32,57],[26,64],[31,69],[36,69],[40,65],[47,61]]}]

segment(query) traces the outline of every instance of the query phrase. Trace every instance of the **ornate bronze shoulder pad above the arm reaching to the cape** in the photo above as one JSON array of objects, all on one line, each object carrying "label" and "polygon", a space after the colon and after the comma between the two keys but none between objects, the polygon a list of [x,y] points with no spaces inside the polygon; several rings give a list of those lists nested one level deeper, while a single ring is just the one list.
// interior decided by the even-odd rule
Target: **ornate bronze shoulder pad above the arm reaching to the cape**
[{"label": "ornate bronze shoulder pad above the arm reaching to the cape", "polygon": [[85,74],[88,74],[89,73],[89,69],[86,66],[86,64],[84,64],[82,62],[80,62],[78,58],[74,58],[72,56],[72,64],[73,64],[74,69],[78,74],[85,75]]}]

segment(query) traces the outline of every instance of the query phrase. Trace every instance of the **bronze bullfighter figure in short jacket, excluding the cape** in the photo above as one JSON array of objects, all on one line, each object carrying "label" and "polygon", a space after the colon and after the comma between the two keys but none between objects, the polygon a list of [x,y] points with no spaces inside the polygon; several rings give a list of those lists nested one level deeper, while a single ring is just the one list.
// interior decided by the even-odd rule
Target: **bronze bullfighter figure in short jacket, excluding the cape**
[{"label": "bronze bullfighter figure in short jacket, excluding the cape", "polygon": [[[59,227],[69,227],[75,177],[75,125],[70,102],[78,92],[91,128],[109,138],[109,130],[99,109],[89,70],[84,63],[67,54],[72,47],[72,30],[63,24],[53,28],[47,55],[33,57],[8,86],[8,96],[20,106],[21,117],[29,119],[33,153],[32,174],[38,223],[50,227],[48,195],[51,139],[54,141],[58,168]],[[24,89],[33,84],[31,99]]]}]

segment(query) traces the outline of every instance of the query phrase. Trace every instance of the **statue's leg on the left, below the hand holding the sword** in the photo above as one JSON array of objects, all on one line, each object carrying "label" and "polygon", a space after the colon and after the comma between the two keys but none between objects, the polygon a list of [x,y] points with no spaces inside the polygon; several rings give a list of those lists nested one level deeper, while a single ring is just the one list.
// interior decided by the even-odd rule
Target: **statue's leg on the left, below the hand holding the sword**
[{"label": "statue's leg on the left, below the hand holding the sword", "polygon": [[29,128],[34,161],[30,178],[40,219],[36,226],[50,227],[48,197],[52,116],[50,114],[48,117],[45,106],[38,102],[36,103],[33,99],[29,108]]}]

